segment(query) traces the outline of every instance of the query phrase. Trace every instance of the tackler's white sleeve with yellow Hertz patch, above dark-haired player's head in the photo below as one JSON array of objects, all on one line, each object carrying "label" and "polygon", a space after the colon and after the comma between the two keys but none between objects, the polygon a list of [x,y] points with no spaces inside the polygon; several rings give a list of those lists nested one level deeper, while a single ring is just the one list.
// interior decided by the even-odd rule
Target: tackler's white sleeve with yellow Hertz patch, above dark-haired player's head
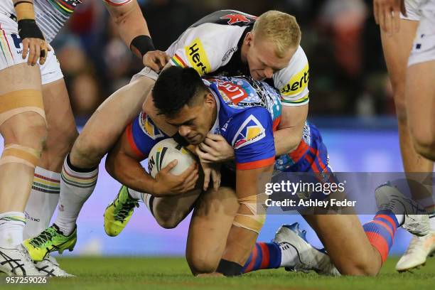
[{"label": "tackler's white sleeve with yellow Hertz patch, above dark-haired player's head", "polygon": [[214,23],[188,28],[166,51],[171,56],[169,63],[194,68],[200,75],[218,70],[227,47],[224,40],[219,41],[223,37],[221,30]]}]

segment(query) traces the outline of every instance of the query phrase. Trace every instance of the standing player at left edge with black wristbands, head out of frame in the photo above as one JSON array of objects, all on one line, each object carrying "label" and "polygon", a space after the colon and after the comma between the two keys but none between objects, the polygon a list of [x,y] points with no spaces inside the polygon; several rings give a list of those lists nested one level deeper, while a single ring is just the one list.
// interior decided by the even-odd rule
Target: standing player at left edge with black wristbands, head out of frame
[{"label": "standing player at left edge with black wristbands, head out of frame", "polygon": [[[58,203],[63,159],[77,136],[63,75],[47,43],[80,3],[0,2],[0,132],[5,144],[0,161],[0,271],[6,274],[67,275],[49,257],[34,267],[19,245],[26,219],[26,237],[48,226]],[[104,4],[124,42],[158,70],[159,58],[164,59],[146,55],[154,47],[137,2]]]}]

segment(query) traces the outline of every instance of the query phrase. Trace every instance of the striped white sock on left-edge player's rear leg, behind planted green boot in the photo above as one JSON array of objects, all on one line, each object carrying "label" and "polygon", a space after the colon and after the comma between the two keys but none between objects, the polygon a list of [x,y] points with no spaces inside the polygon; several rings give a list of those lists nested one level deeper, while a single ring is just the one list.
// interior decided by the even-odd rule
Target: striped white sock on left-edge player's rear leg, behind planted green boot
[{"label": "striped white sock on left-edge player's rear leg, behind planted green boot", "polygon": [[36,167],[31,194],[24,211],[24,239],[35,237],[50,225],[51,217],[58,205],[59,193],[60,173]]}]

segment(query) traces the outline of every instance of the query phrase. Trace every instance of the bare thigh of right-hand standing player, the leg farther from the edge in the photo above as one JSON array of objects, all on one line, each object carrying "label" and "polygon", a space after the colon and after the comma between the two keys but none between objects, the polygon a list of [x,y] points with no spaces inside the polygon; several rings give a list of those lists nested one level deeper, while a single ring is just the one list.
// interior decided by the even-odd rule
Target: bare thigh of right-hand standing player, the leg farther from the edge
[{"label": "bare thigh of right-hand standing player, the leg farther from the edge", "polygon": [[[412,48],[412,41],[419,21],[400,19],[400,31],[388,34],[381,31],[382,50],[384,51],[385,63],[394,92],[394,102],[398,114],[406,113],[404,110],[404,86],[407,73],[409,53]],[[400,115],[399,115],[400,117]]]}]

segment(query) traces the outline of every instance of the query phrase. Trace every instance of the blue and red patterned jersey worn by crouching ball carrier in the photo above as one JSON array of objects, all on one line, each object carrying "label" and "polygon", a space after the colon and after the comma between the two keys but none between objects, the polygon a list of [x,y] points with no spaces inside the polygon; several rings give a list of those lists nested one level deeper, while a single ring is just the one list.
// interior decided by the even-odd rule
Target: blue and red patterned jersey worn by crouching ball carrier
[{"label": "blue and red patterned jersey worn by crouching ball carrier", "polygon": [[[215,97],[218,117],[213,134],[222,135],[235,150],[240,170],[261,168],[275,162],[273,130],[281,117],[279,92],[251,77],[218,77],[204,80]],[[127,127],[129,144],[141,158],[168,138],[144,112]]]}]

